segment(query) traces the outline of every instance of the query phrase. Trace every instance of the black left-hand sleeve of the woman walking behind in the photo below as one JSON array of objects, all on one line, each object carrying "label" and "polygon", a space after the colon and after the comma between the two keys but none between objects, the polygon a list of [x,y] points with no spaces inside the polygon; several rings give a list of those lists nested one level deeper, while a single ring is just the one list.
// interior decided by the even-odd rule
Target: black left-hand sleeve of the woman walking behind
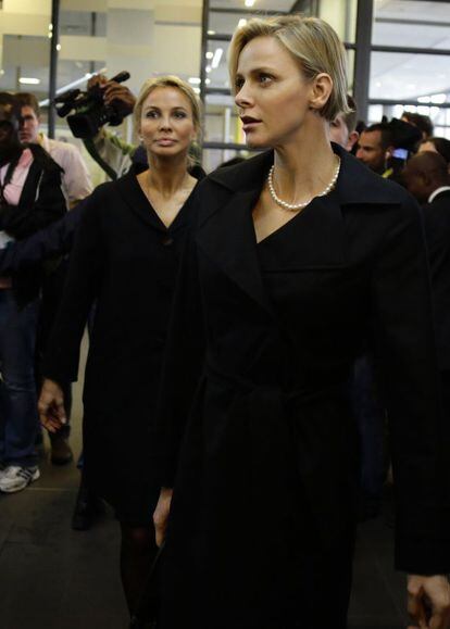
[{"label": "black left-hand sleeve of the woman walking behind", "polygon": [[103,204],[98,189],[85,205],[75,235],[60,309],[43,358],[43,376],[60,383],[77,379],[83,332],[101,286],[105,264],[101,225]]}]

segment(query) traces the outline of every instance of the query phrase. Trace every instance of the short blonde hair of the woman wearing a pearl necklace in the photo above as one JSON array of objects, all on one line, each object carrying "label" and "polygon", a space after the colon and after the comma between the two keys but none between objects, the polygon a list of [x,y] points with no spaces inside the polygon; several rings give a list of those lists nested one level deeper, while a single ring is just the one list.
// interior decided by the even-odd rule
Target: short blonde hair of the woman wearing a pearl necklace
[{"label": "short blonde hair of the woman wearing a pearl necklace", "polygon": [[253,17],[238,28],[232,39],[228,67],[232,86],[236,85],[239,55],[243,47],[255,37],[275,37],[298,62],[307,78],[326,73],[333,81],[333,91],[320,111],[327,121],[340,113],[347,114],[347,59],[336,32],[318,17],[303,15],[276,15]]}]

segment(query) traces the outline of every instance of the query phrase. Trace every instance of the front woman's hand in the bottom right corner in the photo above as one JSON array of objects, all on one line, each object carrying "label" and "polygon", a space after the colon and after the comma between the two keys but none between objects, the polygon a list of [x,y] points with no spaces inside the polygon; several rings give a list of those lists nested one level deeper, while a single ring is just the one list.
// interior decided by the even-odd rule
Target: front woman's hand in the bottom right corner
[{"label": "front woman's hand in the bottom right corner", "polygon": [[408,576],[408,613],[413,625],[408,629],[450,628],[450,584],[443,575]]}]

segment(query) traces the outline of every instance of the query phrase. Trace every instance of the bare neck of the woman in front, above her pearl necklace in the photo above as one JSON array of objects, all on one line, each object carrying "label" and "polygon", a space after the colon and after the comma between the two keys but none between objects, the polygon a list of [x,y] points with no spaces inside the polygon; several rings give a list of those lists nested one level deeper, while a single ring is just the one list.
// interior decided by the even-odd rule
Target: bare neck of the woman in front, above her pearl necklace
[{"label": "bare neck of the woman in front, above her pearl necklace", "polygon": [[291,141],[275,147],[274,163],[277,193],[291,203],[320,193],[332,181],[337,166],[324,125],[303,127]]}]

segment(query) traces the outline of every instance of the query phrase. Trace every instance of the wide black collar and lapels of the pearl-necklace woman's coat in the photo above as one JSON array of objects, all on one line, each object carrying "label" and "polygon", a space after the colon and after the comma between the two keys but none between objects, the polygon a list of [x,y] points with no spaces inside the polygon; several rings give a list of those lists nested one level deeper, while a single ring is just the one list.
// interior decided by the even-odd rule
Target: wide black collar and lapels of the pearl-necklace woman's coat
[{"label": "wide black collar and lapels of the pearl-necklace woman's coat", "polygon": [[[277,248],[277,264],[289,273],[337,271],[348,264],[342,205],[379,203],[388,209],[405,199],[403,188],[372,173],[336,144],[333,149],[341,158],[335,189],[327,197],[315,198],[278,230],[290,230],[290,237]],[[251,210],[273,159],[273,151],[267,151],[207,177],[200,184],[201,211],[196,234],[197,244],[208,257],[272,315],[261,276]]]}]

